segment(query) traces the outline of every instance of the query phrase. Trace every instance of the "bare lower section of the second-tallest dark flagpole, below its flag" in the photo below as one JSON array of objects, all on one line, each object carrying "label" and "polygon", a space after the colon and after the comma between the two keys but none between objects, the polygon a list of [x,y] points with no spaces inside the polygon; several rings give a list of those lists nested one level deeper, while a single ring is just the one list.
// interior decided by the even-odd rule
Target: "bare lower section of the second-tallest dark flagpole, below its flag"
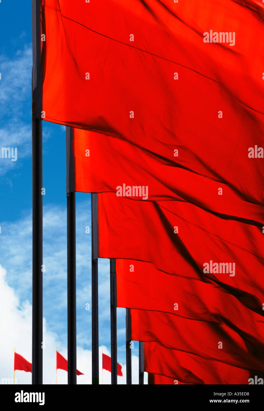
[{"label": "bare lower section of the second-tallest dark flagpole, below its flag", "polygon": [[76,384],[76,219],[75,192],[67,194],[68,384]]}]

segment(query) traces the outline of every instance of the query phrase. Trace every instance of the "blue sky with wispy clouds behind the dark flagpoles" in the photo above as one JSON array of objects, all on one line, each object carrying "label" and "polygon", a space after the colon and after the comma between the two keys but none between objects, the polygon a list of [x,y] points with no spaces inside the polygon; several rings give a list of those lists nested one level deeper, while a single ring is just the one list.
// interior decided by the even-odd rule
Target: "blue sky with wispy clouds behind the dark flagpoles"
[{"label": "blue sky with wispy clouds behind the dark flagpoles", "polygon": [[[0,147],[17,147],[18,159],[0,159],[0,265],[4,290],[12,307],[1,309],[10,311],[10,324],[19,330],[17,321],[27,321],[31,327],[32,301],[32,157],[31,157],[31,69],[32,32],[31,2],[0,3]],[[43,121],[43,273],[45,332],[47,341],[57,344],[67,355],[67,261],[66,261],[66,145],[65,127]],[[77,214],[77,346],[83,364],[91,354],[91,234],[85,227],[91,227],[90,194],[76,194]],[[5,274],[6,270],[6,274]],[[6,288],[5,288],[6,287]],[[3,301],[3,298],[2,298]],[[99,261],[99,344],[110,350],[110,296],[109,261]],[[8,321],[5,316],[2,321]],[[6,324],[7,325],[7,324]],[[7,331],[11,333],[11,331]],[[45,340],[44,332],[44,340]],[[13,335],[14,334],[14,335]],[[21,346],[27,352],[17,351],[31,361],[30,332],[27,336],[13,330],[6,344],[8,361],[3,365],[2,374],[11,364],[14,347]],[[8,339],[7,338],[7,339]],[[25,341],[22,344],[22,339]],[[53,344],[52,343],[52,344]],[[5,342],[1,344],[5,345]],[[51,345],[52,345],[51,344]],[[50,351],[49,351],[50,350]],[[46,350],[52,353],[55,346]],[[108,350],[108,351],[107,351]],[[1,350],[0,350],[1,351]],[[138,355],[137,345],[133,354]],[[4,355],[4,354],[2,354]],[[53,354],[50,354],[53,356]],[[45,360],[44,355],[44,360]],[[46,362],[54,358],[47,356]],[[125,309],[118,309],[118,362],[125,365]],[[86,363],[85,363],[86,364]],[[133,368],[137,379],[137,357]],[[45,367],[48,367],[46,365]],[[53,367],[53,364],[50,365]],[[82,367],[77,360],[77,367]],[[89,367],[89,363],[85,365]],[[19,381],[30,382],[30,376],[18,372]],[[66,373],[64,373],[66,374]],[[109,374],[109,373],[106,373]],[[52,374],[53,375],[53,374]],[[110,375],[110,374],[109,374]],[[0,365],[0,378],[1,378]],[[6,376],[6,375],[3,375]],[[81,377],[78,377],[79,381]],[[46,382],[53,376],[47,373]],[[61,381],[66,382],[65,376]],[[104,376],[104,383],[109,376]],[[82,383],[87,383],[82,379]],[[123,383],[123,382],[120,382]]]}]

